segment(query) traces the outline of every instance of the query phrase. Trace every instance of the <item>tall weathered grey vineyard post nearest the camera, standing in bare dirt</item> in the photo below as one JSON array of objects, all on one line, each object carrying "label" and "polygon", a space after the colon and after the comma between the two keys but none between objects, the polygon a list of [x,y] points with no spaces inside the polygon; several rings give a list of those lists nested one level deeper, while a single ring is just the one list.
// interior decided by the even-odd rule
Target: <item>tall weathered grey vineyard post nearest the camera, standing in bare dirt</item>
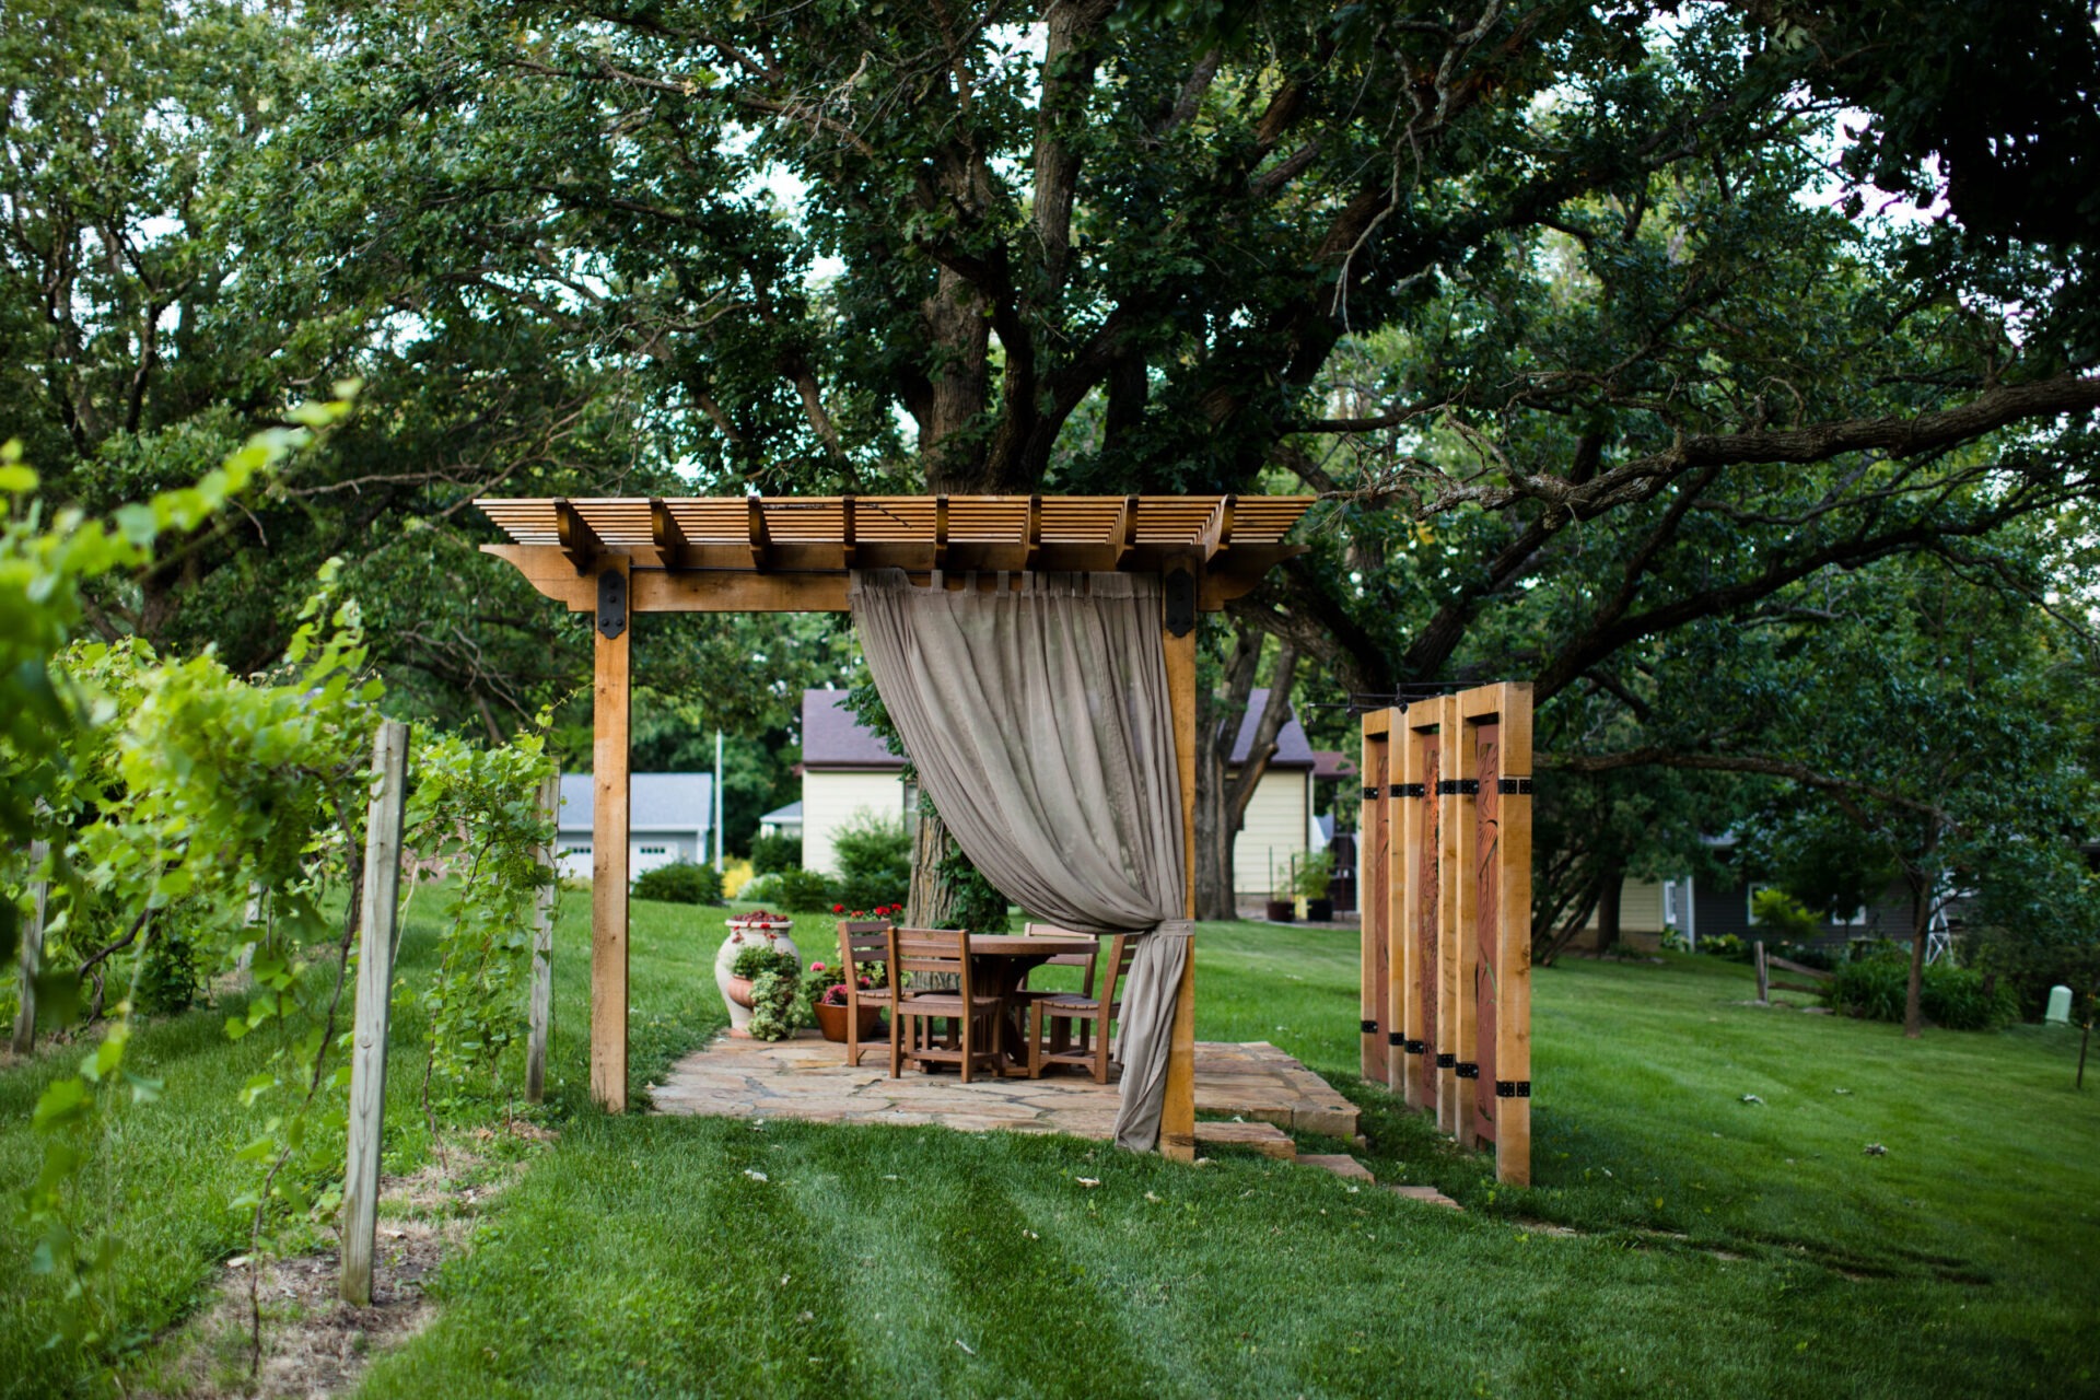
[{"label": "tall weathered grey vineyard post nearest the camera, standing in bare dirt", "polygon": [[357,928],[357,1031],[351,1041],[351,1157],[342,1178],[342,1299],[372,1306],[378,1238],[380,1140],[386,1125],[386,997],[393,991],[401,900],[401,802],[407,796],[407,724],[380,720],[372,745],[378,791],[365,810],[365,890]]}]

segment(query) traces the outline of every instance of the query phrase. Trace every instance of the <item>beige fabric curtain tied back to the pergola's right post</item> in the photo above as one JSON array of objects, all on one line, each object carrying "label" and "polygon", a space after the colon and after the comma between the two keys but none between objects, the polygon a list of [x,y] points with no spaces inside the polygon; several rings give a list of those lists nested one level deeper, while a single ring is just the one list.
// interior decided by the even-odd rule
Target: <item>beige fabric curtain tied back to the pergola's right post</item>
[{"label": "beige fabric curtain tied back to the pergola's right post", "polygon": [[[995,584],[981,588],[981,584]],[[1151,1150],[1189,959],[1159,579],[855,571],[867,670],[964,854],[1029,913],[1144,934],[1124,993],[1117,1144]]]}]

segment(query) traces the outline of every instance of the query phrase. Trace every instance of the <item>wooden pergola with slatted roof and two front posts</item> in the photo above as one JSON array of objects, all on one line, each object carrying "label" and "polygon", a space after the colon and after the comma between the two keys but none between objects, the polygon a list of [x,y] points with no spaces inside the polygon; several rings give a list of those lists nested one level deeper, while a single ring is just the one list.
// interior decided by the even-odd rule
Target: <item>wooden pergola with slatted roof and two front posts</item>
[{"label": "wooden pergola with slatted roof and two front posts", "polygon": [[[844,613],[853,569],[998,588],[1021,571],[1157,573],[1195,915],[1195,615],[1302,552],[1302,495],[817,495],[477,500],[481,546],[571,613],[594,613],[590,1091],[628,1104],[628,695],[632,613]],[[1195,959],[1182,972],[1159,1146],[1195,1154]]]}]

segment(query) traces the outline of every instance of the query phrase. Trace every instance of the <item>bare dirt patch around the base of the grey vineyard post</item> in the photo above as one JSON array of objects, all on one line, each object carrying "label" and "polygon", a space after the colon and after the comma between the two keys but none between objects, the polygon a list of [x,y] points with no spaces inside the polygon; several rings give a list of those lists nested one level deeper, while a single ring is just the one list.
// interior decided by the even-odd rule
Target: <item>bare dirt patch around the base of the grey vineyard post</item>
[{"label": "bare dirt patch around the base of the grey vineyard post", "polygon": [[[475,1150],[491,1136],[481,1129],[468,1142],[447,1144],[445,1161],[380,1182],[370,1308],[338,1297],[342,1255],[336,1247],[229,1259],[210,1306],[158,1348],[162,1360],[139,1377],[134,1394],[328,1400],[355,1390],[378,1354],[430,1322],[437,1314],[424,1293],[430,1274],[466,1243],[481,1207],[523,1173],[523,1163],[489,1163]],[[552,1140],[529,1123],[517,1123],[514,1136]],[[254,1308],[262,1314],[260,1360]]]}]

